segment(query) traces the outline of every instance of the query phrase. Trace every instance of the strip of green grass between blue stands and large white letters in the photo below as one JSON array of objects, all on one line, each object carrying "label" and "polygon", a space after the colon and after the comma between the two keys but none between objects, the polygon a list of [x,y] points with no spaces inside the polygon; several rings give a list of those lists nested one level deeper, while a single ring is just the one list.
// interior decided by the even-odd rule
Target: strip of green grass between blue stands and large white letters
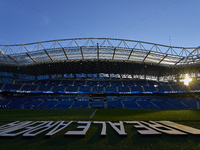
[{"label": "strip of green grass between blue stands and large white letters", "polygon": [[23,120],[104,120],[104,121],[200,121],[200,110],[156,110],[156,109],[5,109],[0,110],[0,121]]}]

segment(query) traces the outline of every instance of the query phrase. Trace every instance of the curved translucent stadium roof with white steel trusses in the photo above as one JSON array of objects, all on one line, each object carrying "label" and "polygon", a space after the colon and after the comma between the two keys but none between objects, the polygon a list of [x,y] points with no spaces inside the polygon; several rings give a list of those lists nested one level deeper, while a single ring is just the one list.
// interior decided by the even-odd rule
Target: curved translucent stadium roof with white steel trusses
[{"label": "curved translucent stadium roof with white steel trusses", "polygon": [[196,72],[200,62],[200,47],[112,38],[59,39],[0,45],[0,49],[1,72],[29,75],[132,73],[163,76],[180,69],[188,70],[188,66]]}]

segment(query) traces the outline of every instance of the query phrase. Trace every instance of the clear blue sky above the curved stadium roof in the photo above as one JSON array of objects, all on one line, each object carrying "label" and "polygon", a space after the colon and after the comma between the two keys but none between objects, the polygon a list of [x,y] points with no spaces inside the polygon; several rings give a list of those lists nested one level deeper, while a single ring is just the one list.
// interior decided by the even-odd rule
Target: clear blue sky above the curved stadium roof
[{"label": "clear blue sky above the curved stadium roof", "polygon": [[0,45],[119,38],[200,46],[200,0],[1,0]]}]

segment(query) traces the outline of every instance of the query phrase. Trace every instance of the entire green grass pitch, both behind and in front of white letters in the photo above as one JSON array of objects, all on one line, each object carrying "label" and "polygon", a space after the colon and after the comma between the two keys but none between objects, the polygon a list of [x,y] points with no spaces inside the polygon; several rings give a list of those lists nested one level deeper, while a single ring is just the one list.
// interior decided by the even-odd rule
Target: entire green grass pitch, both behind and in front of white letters
[{"label": "entire green grass pitch, both behind and in front of white letters", "polygon": [[[33,109],[0,110],[0,125],[13,121],[173,121],[200,129],[200,110],[155,110],[155,109]],[[80,125],[80,124],[79,124]],[[200,149],[200,137],[194,135],[141,136],[132,124],[125,124],[127,136],[118,133],[106,124],[105,137],[101,136],[102,125],[91,124],[85,137],[65,136],[67,131],[76,131],[72,123],[50,138],[44,132],[34,138],[19,135],[1,137],[0,149]]]}]

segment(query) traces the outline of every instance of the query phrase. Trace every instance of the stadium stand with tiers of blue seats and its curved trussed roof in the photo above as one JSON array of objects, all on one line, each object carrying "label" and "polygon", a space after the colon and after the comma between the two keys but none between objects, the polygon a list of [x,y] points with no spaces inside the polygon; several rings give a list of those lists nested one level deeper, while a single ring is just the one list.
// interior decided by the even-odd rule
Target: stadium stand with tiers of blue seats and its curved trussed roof
[{"label": "stadium stand with tiers of blue seats and its curved trussed roof", "polygon": [[0,49],[1,78],[12,79],[0,85],[3,108],[199,107],[200,47],[75,38]]}]

